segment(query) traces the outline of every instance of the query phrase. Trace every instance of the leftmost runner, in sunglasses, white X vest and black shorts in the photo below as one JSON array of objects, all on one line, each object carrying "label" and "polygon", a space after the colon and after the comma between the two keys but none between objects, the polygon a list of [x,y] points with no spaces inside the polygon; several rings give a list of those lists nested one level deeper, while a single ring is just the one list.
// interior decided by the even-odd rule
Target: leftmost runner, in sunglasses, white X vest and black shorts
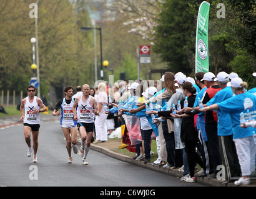
[{"label": "leftmost runner, in sunglasses, white X vest and black shorts", "polygon": [[[33,139],[33,162],[37,162],[37,149],[38,149],[38,134],[40,128],[40,117],[39,113],[46,111],[46,106],[42,103],[42,99],[35,96],[36,88],[35,86],[27,86],[27,97],[21,100],[21,118],[24,125],[24,136],[27,146],[27,156],[30,157],[32,153],[31,147],[31,131]],[[24,116],[25,112],[25,116]]]}]

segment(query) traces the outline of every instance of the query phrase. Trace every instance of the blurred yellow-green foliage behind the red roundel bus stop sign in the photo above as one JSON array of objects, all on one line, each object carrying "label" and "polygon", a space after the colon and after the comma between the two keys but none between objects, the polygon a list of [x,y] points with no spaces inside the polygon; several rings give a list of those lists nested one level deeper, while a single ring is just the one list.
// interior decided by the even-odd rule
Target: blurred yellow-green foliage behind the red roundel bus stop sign
[{"label": "blurred yellow-green foliage behind the red roundel bus stop sign", "polygon": [[[108,68],[114,69],[115,81],[120,79],[120,73],[124,71],[127,80],[137,80],[137,47],[138,45],[150,45],[150,42],[138,35],[129,34],[129,27],[124,26],[123,22],[124,16],[117,14],[114,21],[106,21],[102,25],[103,60],[109,61]],[[151,48],[153,48],[152,45]],[[140,78],[149,78],[149,69],[164,68],[164,64],[160,62],[159,55],[154,52],[154,49],[151,49],[150,57],[150,63],[140,65]],[[131,65],[134,66],[132,77],[127,76],[127,73],[130,72],[130,65],[124,65],[129,59],[130,63],[133,62]],[[104,80],[107,80],[107,75],[112,75],[112,72],[108,70],[104,70],[104,73],[106,74]],[[160,79],[161,76],[157,73],[152,75],[152,78]]]}]

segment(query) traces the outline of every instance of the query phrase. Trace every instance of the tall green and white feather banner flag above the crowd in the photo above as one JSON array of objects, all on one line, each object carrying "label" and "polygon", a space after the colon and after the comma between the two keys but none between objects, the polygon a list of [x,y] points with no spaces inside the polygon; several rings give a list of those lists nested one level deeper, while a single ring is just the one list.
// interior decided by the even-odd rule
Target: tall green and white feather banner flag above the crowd
[{"label": "tall green and white feather banner flag above the crowd", "polygon": [[209,72],[208,21],[210,4],[203,1],[197,16],[197,38],[195,43],[195,73]]}]

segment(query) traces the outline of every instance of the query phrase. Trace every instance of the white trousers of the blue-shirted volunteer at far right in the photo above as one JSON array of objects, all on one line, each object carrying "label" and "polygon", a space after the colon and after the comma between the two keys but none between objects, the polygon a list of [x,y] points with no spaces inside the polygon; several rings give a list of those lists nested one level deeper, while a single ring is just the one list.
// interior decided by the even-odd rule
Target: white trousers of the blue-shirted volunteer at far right
[{"label": "white trousers of the blue-shirted volunteer at far right", "polygon": [[256,144],[253,137],[233,139],[237,149],[237,156],[241,167],[242,175],[250,175],[255,171]]}]

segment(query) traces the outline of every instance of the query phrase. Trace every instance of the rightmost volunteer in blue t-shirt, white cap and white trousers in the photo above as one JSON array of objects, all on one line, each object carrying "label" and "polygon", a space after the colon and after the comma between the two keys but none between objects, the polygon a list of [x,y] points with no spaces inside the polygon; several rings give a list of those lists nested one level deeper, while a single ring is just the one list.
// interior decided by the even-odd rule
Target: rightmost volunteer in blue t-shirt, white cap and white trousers
[{"label": "rightmost volunteer in blue t-shirt, white cap and white trousers", "polygon": [[[226,99],[222,103],[212,104],[206,106],[203,111],[217,110],[230,114],[233,139],[239,157],[239,164],[242,171],[242,177],[235,181],[235,185],[248,185],[250,184],[250,175],[255,171],[255,153],[256,145],[253,139],[253,128],[240,127],[240,113],[250,113],[256,111],[256,96],[252,93],[245,92],[247,83],[242,81],[241,78],[233,78],[231,80],[231,88],[235,96]],[[245,114],[245,116],[247,116]]]}]

